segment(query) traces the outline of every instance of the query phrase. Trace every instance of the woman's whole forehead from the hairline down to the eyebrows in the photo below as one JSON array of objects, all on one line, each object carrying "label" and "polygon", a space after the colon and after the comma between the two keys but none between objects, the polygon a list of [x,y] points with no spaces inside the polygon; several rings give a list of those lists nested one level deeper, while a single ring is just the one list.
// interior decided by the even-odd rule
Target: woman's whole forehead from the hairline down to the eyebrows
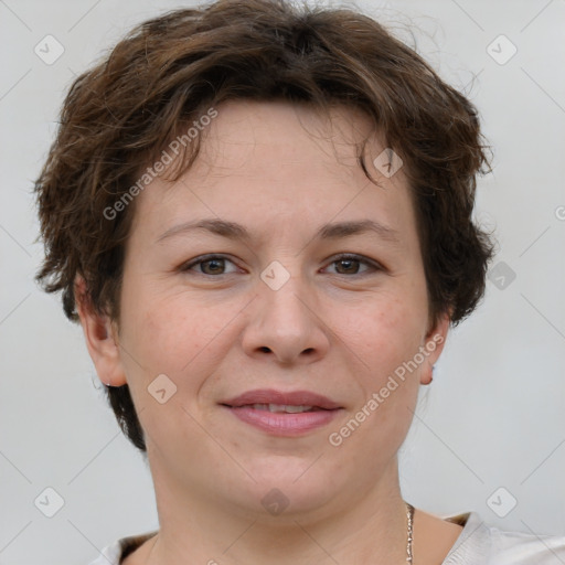
[{"label": "woman's whole forehead from the hairline down to the eyebrows", "polygon": [[[413,223],[403,171],[386,178],[375,168],[384,143],[361,110],[338,106],[322,114],[307,105],[233,100],[216,111],[202,128],[191,168],[172,184],[156,179],[137,202],[138,224],[142,217],[156,237],[181,221],[214,215],[265,226],[319,226],[333,216]],[[359,163],[367,137],[365,162],[376,182]]]}]

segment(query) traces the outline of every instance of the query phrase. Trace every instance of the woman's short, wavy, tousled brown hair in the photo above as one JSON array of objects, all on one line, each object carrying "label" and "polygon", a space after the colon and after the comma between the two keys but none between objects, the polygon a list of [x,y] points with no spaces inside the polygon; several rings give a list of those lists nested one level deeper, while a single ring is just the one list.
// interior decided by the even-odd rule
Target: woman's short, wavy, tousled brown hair
[{"label": "woman's short, wavy, tousled brown hair", "polygon": [[[493,245],[471,218],[476,177],[489,166],[475,106],[366,15],[284,0],[218,0],[138,25],[66,96],[35,182],[46,249],[36,280],[47,292],[62,290],[71,320],[78,320],[81,275],[92,307],[119,323],[135,206],[109,220],[105,210],[181,125],[236,98],[363,110],[404,161],[434,321],[449,313],[456,324],[476,308]],[[183,170],[199,140],[185,146]],[[362,151],[359,162],[370,177]],[[145,451],[128,385],[106,392],[121,429]]]}]

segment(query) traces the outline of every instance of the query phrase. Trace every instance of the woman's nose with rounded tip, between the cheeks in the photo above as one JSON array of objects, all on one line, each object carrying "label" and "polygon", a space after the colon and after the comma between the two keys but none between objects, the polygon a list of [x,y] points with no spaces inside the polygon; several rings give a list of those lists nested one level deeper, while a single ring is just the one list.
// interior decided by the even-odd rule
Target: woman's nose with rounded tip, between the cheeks
[{"label": "woman's nose with rounded tip, between the cheeks", "polygon": [[243,333],[247,355],[274,360],[280,365],[309,364],[330,348],[330,329],[320,318],[318,300],[297,277],[274,290],[257,282]]}]

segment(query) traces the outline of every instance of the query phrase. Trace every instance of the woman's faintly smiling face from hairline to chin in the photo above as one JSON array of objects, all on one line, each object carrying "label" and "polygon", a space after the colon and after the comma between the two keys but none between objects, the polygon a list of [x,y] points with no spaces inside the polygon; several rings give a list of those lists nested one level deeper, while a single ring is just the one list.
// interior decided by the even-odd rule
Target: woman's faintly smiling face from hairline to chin
[{"label": "woman's faintly smiling face from hairline to chin", "polygon": [[403,170],[375,168],[374,139],[367,180],[352,109],[331,127],[285,103],[216,109],[194,166],[137,196],[119,347],[93,359],[130,387],[158,499],[344,509],[396,480],[447,330],[428,328]]}]

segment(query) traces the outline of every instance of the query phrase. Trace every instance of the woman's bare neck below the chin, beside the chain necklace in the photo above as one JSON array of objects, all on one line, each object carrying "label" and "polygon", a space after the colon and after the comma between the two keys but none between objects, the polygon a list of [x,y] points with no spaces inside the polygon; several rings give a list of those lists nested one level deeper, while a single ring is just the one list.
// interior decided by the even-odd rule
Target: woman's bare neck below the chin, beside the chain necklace
[{"label": "woman's bare neck below the chin, beside the chain necklace", "polygon": [[[396,460],[358,500],[279,515],[231,510],[225,501],[185,493],[159,480],[156,495],[160,531],[145,563],[306,565],[391,564],[406,559],[406,507]],[[170,488],[166,488],[169,486]],[[195,489],[194,489],[195,490]]]}]

